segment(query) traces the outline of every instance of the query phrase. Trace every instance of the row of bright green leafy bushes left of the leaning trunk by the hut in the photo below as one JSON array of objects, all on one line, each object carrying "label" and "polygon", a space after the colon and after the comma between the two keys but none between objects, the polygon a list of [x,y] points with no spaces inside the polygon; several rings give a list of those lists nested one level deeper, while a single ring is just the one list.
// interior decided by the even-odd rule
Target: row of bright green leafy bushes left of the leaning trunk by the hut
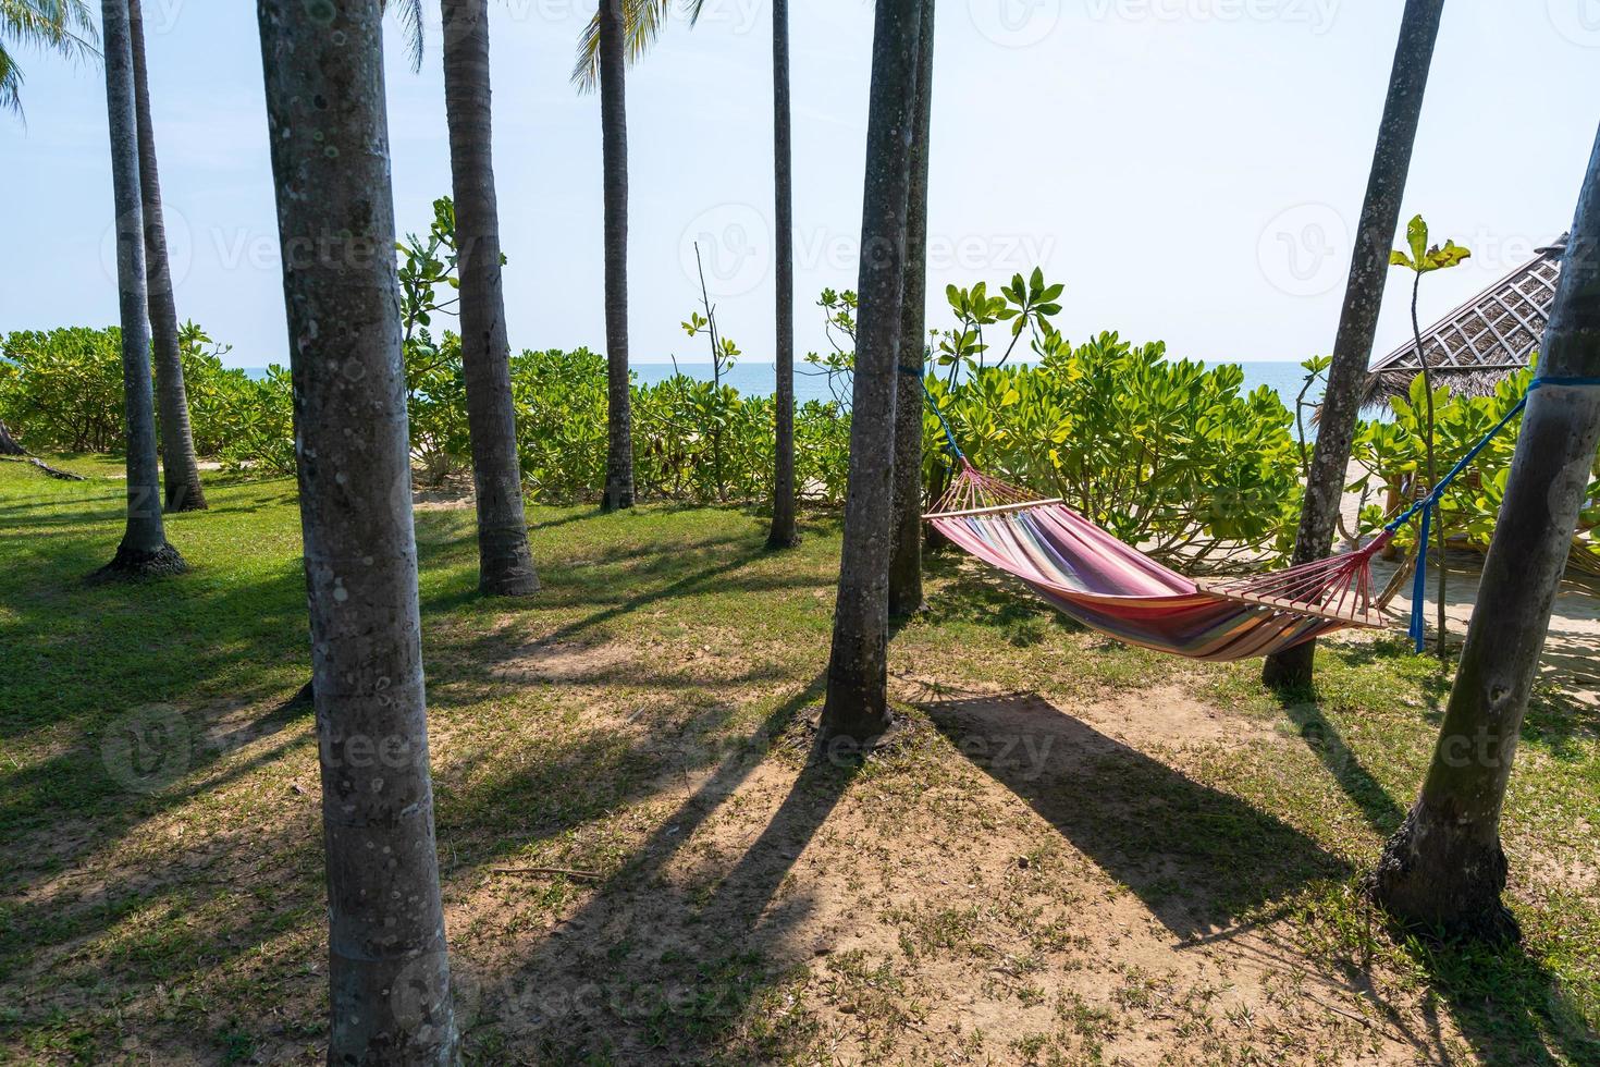
[{"label": "row of bright green leafy bushes left of the leaning trunk by the hut", "polygon": [[[411,456],[419,480],[470,467],[461,339],[429,333],[430,314],[454,302],[453,211],[435,205],[424,238],[398,248]],[[1064,498],[1123,541],[1187,563],[1221,563],[1286,549],[1299,499],[1291,416],[1266,387],[1242,394],[1237,366],[1168,362],[1160,344],[1101,334],[1074,347],[1051,325],[1061,286],[1035,270],[990,296],[982,283],[950,286],[954,325],[933,331],[926,386],[973,461],[1040,493]],[[440,293],[448,299],[440,302]],[[808,357],[827,374],[834,400],[795,413],[797,477],[821,504],[845,498],[850,467],[850,376],[856,299],[824,291],[832,352]],[[725,365],[738,347],[710,334]],[[990,363],[986,330],[1003,347]],[[18,357],[0,370],[0,413],[43,446],[110,448],[120,440],[120,362],[115,331],[56,331],[59,342],[13,334]],[[56,338],[56,334],[50,334]],[[1026,342],[1026,346],[1024,346]],[[8,339],[8,354],[11,339]],[[1034,365],[1010,363],[1016,350]],[[282,366],[251,381],[226,370],[227,349],[197,326],[184,333],[195,443],[234,469],[294,469],[293,389]],[[190,370],[192,368],[192,370]],[[587,349],[522,352],[510,360],[518,454],[528,496],[562,502],[598,498],[606,458],[606,363]],[[83,397],[91,397],[88,403]],[[635,483],[642,498],[762,502],[773,490],[771,397],[742,397],[717,382],[675,374],[634,384]],[[101,422],[85,422],[80,413]],[[923,462],[930,493],[947,470],[942,434],[925,411]]]}]

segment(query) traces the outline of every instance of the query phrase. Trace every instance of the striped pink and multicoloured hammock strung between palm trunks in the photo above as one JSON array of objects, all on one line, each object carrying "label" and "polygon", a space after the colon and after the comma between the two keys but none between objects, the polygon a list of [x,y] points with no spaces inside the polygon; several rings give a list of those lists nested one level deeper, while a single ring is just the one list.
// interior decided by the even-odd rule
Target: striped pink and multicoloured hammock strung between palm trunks
[{"label": "striped pink and multicoloured hammock strung between palm trunks", "polygon": [[982,475],[965,459],[925,518],[1083,625],[1174,656],[1269,656],[1346,627],[1384,625],[1371,558],[1390,534],[1328,560],[1202,585],[1061,501]]}]

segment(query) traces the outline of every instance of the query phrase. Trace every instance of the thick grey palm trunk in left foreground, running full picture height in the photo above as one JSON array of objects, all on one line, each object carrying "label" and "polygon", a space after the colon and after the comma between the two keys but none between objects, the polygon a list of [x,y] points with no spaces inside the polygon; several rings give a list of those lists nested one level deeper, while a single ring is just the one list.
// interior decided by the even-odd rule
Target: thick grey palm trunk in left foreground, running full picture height
[{"label": "thick grey palm trunk in left foreground, running full picture height", "polygon": [[328,873],[328,1062],[458,1056],[438,896],[379,0],[259,0]]}]

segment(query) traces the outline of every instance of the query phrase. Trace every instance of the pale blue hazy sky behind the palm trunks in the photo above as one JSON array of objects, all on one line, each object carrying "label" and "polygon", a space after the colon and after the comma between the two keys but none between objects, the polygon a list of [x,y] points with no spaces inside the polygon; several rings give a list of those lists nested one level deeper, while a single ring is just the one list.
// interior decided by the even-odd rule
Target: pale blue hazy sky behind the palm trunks
[{"label": "pale blue hazy sky behind the palm trunks", "polygon": [[[285,360],[254,5],[144,0],[179,315]],[[438,14],[411,74],[390,32],[402,229],[450,189]],[[930,322],[946,283],[1040,264],[1061,325],[1165,339],[1173,355],[1299,360],[1333,344],[1398,0],[941,0]],[[512,344],[603,347],[598,101],[578,96],[578,0],[493,10],[496,173]],[[390,27],[392,30],[392,27]],[[794,5],[800,350],[811,307],[854,283],[872,5]],[[771,360],[768,0],[707,0],[629,80],[632,352],[698,360],[696,240],[723,333]],[[0,331],[115,320],[99,74],[22,54],[26,125],[0,115],[11,270]],[[1403,218],[1474,250],[1434,275],[1448,310],[1571,221],[1600,118],[1600,0],[1453,0]],[[1378,350],[1408,326],[1403,278]]]}]

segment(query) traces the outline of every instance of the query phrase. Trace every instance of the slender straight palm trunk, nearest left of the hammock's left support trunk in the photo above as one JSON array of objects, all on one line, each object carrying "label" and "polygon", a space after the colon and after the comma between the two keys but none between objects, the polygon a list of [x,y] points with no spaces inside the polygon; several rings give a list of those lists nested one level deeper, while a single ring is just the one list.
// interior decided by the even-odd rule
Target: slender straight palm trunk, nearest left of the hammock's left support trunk
[{"label": "slender straight palm trunk, nearest left of the hammock's left support trunk", "polygon": [[773,194],[778,390],[773,394],[773,528],[766,545],[790,549],[800,542],[800,534],[795,531],[795,194],[789,134],[789,0],[773,0]]}]

